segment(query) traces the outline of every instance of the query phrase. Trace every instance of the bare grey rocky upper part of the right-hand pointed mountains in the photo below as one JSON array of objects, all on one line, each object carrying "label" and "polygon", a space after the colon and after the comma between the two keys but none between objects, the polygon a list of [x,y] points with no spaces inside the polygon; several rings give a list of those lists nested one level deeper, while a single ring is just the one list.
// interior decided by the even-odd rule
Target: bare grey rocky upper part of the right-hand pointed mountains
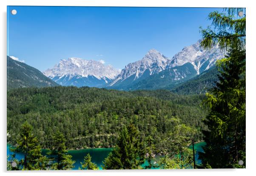
[{"label": "bare grey rocky upper part of the right-hand pointed mountains", "polygon": [[[184,79],[188,75],[200,74],[214,65],[216,60],[225,57],[219,46],[216,45],[210,51],[204,50],[201,46],[201,39],[188,47],[184,47],[180,52],[169,59],[155,49],[149,50],[142,60],[129,63],[122,69],[121,73],[108,86],[129,87],[138,80],[148,79],[148,76],[165,71],[174,80]],[[178,67],[183,66],[183,67]],[[174,67],[177,67],[174,68]],[[177,71],[181,72],[177,72]],[[163,72],[161,72],[163,73]],[[160,73],[159,73],[160,75]],[[164,78],[165,75],[161,75]]]}]

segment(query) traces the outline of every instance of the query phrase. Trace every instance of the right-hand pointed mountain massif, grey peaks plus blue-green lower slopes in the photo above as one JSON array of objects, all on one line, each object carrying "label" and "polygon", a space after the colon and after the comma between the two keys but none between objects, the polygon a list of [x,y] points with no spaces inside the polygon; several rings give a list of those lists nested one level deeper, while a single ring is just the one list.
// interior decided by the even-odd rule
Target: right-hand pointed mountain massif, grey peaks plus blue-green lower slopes
[{"label": "right-hand pointed mountain massif, grey peaks plus blue-green lower slopes", "polygon": [[225,57],[218,45],[210,51],[196,44],[184,47],[182,51],[167,58],[157,50],[150,50],[142,60],[129,63],[106,88],[120,90],[159,89],[174,87],[210,69],[216,60]]}]

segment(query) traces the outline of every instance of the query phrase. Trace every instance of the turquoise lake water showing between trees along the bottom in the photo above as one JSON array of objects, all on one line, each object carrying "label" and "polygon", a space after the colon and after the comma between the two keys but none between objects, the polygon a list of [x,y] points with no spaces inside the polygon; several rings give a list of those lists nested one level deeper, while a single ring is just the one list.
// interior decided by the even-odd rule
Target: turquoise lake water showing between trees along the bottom
[{"label": "turquoise lake water showing between trees along the bottom", "polygon": [[[202,146],[205,146],[205,142],[195,143],[194,148],[196,151],[195,157],[196,157],[196,164],[199,165],[201,161],[198,159],[198,151],[203,152]],[[10,150],[11,145],[7,144],[7,155],[13,154]],[[189,146],[188,148],[192,148],[192,146]],[[80,149],[80,150],[68,150],[68,154],[72,156],[72,159],[75,160],[74,168],[78,169],[81,167],[80,162],[83,161],[84,157],[87,154],[91,155],[92,162],[96,163],[100,169],[103,160],[108,156],[108,154],[113,150],[113,148],[89,148],[89,149]],[[46,154],[47,150],[43,150],[43,154]],[[15,158],[22,159],[24,157],[23,153],[16,154]],[[145,163],[146,164],[146,163]],[[144,165],[145,165],[144,164]]]}]

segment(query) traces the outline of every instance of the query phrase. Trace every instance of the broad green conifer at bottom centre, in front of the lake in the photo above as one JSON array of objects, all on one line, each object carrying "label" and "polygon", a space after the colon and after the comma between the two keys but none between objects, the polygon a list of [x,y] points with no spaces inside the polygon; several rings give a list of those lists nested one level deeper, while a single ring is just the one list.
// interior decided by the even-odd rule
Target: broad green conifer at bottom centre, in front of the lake
[{"label": "broad green conifer at bottom centre, in front of the lake", "polygon": [[114,150],[104,160],[103,169],[139,169],[144,163],[143,144],[134,125],[124,127]]}]

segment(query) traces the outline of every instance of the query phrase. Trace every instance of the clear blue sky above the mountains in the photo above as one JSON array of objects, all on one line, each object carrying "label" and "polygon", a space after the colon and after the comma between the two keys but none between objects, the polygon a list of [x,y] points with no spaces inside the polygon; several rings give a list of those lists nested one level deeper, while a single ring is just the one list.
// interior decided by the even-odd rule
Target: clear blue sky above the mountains
[{"label": "clear blue sky above the mountains", "polygon": [[40,71],[69,57],[123,69],[151,48],[171,58],[196,43],[216,10],[222,8],[9,6],[7,54]]}]

